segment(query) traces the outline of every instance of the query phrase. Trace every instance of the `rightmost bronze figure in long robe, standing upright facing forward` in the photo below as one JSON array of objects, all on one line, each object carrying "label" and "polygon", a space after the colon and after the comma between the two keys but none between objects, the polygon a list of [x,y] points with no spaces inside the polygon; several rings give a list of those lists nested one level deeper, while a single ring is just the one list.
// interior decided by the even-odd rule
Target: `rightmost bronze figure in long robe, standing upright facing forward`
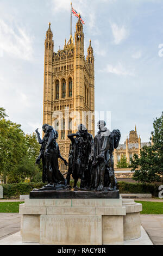
[{"label": "rightmost bronze figure in long robe, standing upright facing forward", "polygon": [[119,130],[110,132],[105,125],[103,120],[97,123],[99,131],[94,138],[91,190],[117,190],[112,153],[118,147],[121,133]]}]

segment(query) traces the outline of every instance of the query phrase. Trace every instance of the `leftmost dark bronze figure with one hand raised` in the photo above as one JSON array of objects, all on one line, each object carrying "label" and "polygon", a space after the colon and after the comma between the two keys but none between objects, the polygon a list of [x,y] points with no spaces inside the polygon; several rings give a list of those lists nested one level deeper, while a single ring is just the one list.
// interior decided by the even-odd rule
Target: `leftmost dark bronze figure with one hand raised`
[{"label": "leftmost dark bronze figure with one hand raised", "polygon": [[36,164],[42,160],[42,181],[48,183],[45,188],[64,189],[67,187],[67,181],[59,170],[58,159],[64,161],[65,165],[68,163],[60,155],[59,145],[56,142],[58,132],[48,124],[44,124],[42,130],[45,133],[43,139],[40,138],[40,133],[36,129],[37,138],[41,144],[40,155],[37,157]]}]

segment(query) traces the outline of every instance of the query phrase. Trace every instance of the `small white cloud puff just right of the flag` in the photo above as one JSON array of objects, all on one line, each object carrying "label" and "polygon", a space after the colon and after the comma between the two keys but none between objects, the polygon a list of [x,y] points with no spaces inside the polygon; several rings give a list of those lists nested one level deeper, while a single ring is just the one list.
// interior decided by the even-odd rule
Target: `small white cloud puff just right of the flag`
[{"label": "small white cloud puff just right of the flag", "polygon": [[120,44],[124,39],[127,38],[129,32],[127,28],[123,26],[118,26],[116,23],[110,23],[111,31],[114,36],[114,43],[116,45]]}]

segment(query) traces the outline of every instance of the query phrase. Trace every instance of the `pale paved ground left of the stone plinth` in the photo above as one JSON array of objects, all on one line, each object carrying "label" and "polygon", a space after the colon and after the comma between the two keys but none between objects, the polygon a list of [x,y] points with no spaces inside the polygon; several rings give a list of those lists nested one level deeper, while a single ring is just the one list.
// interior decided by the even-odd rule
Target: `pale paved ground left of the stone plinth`
[{"label": "pale paved ground left of the stone plinth", "polygon": [[20,231],[21,215],[14,213],[0,214],[0,240]]}]

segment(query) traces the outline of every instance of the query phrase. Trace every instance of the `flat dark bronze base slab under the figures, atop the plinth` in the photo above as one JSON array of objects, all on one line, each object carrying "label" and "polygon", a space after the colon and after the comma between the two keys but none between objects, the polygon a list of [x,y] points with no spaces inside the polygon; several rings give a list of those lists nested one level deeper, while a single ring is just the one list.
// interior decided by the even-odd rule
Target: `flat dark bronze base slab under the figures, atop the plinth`
[{"label": "flat dark bronze base slab under the figures, atop the plinth", "polygon": [[117,199],[120,198],[119,190],[112,191],[87,191],[87,190],[33,190],[30,199]]}]

